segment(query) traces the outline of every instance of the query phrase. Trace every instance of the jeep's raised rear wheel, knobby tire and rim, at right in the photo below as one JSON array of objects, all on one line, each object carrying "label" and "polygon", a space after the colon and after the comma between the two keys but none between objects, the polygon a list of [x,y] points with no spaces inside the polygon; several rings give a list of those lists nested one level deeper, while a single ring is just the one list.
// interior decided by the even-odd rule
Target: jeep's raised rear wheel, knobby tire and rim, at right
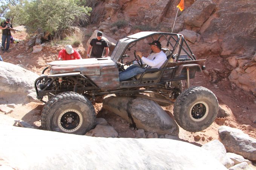
[{"label": "jeep's raised rear wheel, knobby tire and rim, at right", "polygon": [[212,91],[205,87],[190,87],[176,99],[173,114],[181,128],[189,132],[199,132],[217,117],[219,104]]}]

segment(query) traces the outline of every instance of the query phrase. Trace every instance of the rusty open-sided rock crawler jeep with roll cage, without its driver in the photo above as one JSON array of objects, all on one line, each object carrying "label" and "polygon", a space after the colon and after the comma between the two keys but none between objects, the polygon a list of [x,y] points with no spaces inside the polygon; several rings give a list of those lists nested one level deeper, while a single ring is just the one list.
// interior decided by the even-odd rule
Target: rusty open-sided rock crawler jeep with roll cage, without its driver
[{"label": "rusty open-sided rock crawler jeep with roll cage, without its driver", "polygon": [[[147,44],[153,40],[161,42],[166,62],[159,69],[146,69],[143,74],[119,81],[119,72],[132,63],[143,67],[134,51],[150,49]],[[165,32],[139,32],[122,38],[111,57],[47,63],[49,66],[35,80],[37,98],[46,103],[41,115],[42,127],[85,134],[94,128],[96,121],[91,101],[115,94],[149,98],[160,105],[174,102],[173,114],[178,125],[190,132],[202,131],[218,113],[218,100],[210,90],[189,87],[196,72],[205,69],[204,63],[205,60],[196,60],[183,35]],[[46,70],[49,75],[44,74]],[[184,90],[181,80],[186,82]],[[48,96],[48,102],[43,100],[44,96]]]}]

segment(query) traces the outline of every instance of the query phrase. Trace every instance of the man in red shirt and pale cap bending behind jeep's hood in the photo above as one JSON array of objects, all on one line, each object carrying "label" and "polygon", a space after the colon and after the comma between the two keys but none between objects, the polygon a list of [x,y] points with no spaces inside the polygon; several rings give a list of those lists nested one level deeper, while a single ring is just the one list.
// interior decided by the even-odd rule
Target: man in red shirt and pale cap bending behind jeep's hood
[{"label": "man in red shirt and pale cap bending behind jeep's hood", "polygon": [[58,60],[76,60],[76,59],[82,59],[80,54],[72,48],[71,45],[66,45],[65,48],[60,50]]}]

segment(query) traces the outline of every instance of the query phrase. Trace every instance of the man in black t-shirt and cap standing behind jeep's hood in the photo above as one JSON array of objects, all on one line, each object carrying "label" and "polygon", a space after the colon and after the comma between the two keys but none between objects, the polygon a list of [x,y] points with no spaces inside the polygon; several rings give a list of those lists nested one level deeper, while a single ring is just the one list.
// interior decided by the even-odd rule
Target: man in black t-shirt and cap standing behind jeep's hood
[{"label": "man in black t-shirt and cap standing behind jeep's hood", "polygon": [[[107,41],[105,41],[102,38],[102,32],[98,32],[97,33],[97,38],[93,38],[90,41],[90,45],[87,49],[87,55],[86,55],[86,59],[88,58],[102,58],[103,56],[103,50],[104,48],[106,48],[106,55],[105,57],[107,57],[109,55],[109,45],[107,44]],[[92,53],[91,56],[90,54],[90,50],[92,49]]]}]

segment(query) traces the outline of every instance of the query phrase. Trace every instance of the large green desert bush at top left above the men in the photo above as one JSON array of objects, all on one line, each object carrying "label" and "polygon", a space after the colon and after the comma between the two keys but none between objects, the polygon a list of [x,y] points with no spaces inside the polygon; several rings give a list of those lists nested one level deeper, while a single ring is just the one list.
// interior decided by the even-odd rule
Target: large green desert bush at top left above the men
[{"label": "large green desert bush at top left above the men", "polygon": [[12,6],[8,16],[13,22],[30,27],[32,31],[41,27],[49,33],[78,25],[88,20],[91,8],[80,6],[79,0],[25,0]]}]

